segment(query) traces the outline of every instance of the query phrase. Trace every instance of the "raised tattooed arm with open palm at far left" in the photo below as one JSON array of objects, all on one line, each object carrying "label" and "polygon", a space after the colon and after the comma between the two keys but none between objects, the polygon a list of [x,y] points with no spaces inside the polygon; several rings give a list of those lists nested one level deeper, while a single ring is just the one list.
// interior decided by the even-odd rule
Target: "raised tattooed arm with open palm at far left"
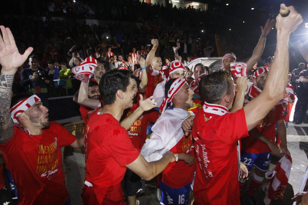
[{"label": "raised tattooed arm with open palm at far left", "polygon": [[14,124],[9,114],[14,75],[18,67],[27,60],[33,48],[29,47],[21,55],[10,29],[4,26],[0,26],[0,29],[2,32],[2,37],[0,36],[0,64],[2,65],[0,74],[0,144],[4,144],[14,134]]}]

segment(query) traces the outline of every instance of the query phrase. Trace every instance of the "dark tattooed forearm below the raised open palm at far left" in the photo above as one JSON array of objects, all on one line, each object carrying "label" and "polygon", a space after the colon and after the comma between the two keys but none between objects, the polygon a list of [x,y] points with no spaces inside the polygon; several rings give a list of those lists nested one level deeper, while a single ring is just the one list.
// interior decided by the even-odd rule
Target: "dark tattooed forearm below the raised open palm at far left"
[{"label": "dark tattooed forearm below the raised open palm at far left", "polygon": [[13,80],[14,74],[0,75],[0,144],[6,143],[14,134],[14,124],[9,114]]}]

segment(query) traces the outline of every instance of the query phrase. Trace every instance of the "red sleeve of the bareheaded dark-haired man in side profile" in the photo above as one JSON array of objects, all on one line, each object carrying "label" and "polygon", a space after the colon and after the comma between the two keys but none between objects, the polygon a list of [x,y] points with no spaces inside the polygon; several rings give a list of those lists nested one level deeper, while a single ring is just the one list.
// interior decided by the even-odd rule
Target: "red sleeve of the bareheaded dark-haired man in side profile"
[{"label": "red sleeve of the bareheaded dark-haired man in side profile", "polygon": [[110,135],[104,138],[101,146],[108,150],[118,164],[125,166],[138,158],[140,152],[134,147],[123,127],[110,128],[108,132]]}]

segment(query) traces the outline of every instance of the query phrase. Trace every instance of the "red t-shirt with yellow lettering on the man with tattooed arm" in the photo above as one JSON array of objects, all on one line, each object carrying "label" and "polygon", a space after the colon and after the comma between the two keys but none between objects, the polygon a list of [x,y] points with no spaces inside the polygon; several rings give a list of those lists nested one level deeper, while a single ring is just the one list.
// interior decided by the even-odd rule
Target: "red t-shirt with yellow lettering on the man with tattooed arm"
[{"label": "red t-shirt with yellow lettering on the man with tattooed arm", "polygon": [[62,169],[61,147],[76,137],[50,122],[42,134],[27,136],[14,128],[13,137],[1,144],[3,158],[18,190],[20,204],[64,204],[69,195]]}]

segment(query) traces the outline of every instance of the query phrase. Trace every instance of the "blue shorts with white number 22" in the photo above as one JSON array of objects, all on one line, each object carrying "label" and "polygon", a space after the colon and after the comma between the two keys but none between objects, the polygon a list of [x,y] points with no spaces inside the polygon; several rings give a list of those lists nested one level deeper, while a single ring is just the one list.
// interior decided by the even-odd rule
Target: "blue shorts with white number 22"
[{"label": "blue shorts with white number 22", "polygon": [[270,169],[270,152],[263,153],[248,153],[241,152],[241,162],[244,163],[248,169],[248,172],[251,171],[252,166],[260,169],[261,171],[268,171]]}]

